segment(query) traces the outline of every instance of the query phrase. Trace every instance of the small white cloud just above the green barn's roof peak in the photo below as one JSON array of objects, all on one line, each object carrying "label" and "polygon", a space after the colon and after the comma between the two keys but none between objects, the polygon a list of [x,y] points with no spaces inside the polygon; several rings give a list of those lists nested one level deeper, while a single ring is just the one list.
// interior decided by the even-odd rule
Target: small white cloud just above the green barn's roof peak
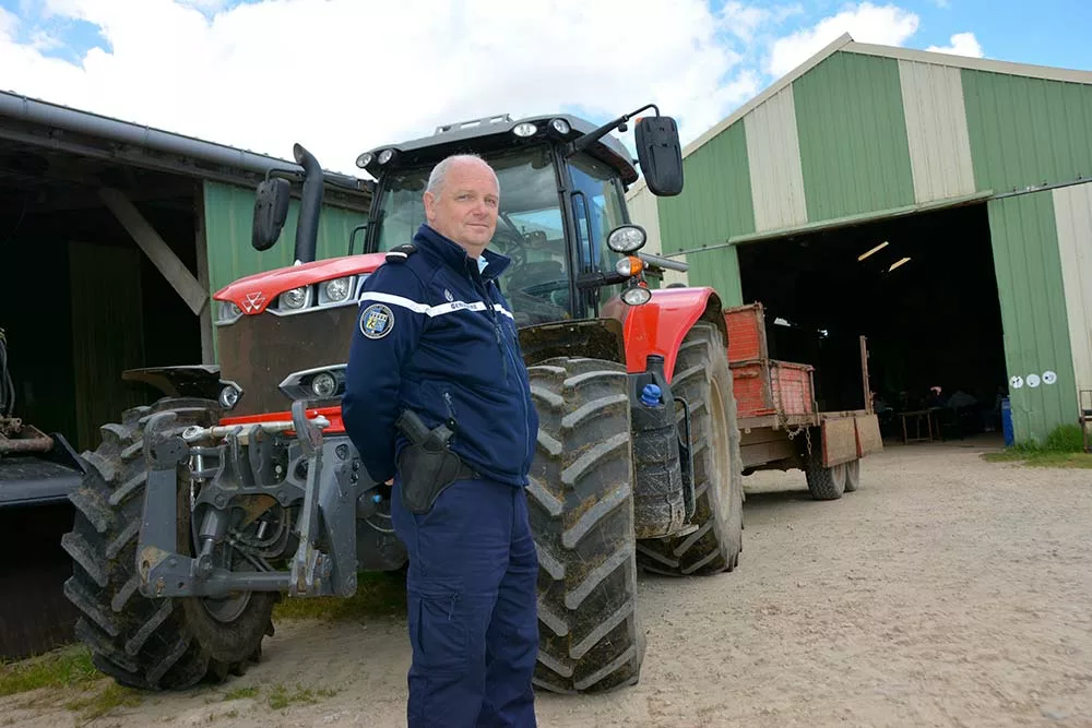
[{"label": "small white cloud just above the green barn's roof peak", "polygon": [[917,32],[918,23],[916,14],[897,5],[874,5],[870,2],[850,5],[812,27],[773,41],[767,71],[774,76],[782,76],[843,33],[848,33],[858,43],[901,46]]}]

